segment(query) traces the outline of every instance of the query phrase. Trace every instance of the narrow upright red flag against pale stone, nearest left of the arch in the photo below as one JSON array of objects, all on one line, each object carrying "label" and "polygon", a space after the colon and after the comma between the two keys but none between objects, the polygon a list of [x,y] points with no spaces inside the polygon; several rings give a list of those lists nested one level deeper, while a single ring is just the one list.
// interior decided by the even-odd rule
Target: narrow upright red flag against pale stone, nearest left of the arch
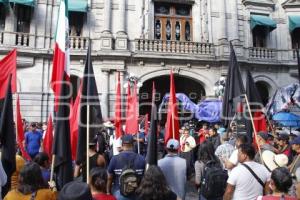
[{"label": "narrow upright red flag against pale stone, nearest left of the arch", "polygon": [[118,139],[122,135],[120,73],[118,73],[117,94],[115,101],[115,131],[115,136]]}]

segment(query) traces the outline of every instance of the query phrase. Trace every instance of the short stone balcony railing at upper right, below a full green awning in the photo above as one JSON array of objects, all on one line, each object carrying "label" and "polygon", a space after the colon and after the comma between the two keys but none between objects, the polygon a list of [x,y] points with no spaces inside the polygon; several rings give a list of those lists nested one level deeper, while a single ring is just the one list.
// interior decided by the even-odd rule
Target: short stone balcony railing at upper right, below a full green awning
[{"label": "short stone balcony railing at upper right, below a full green awning", "polygon": [[262,60],[273,60],[277,57],[277,50],[260,47],[249,48],[249,57]]}]

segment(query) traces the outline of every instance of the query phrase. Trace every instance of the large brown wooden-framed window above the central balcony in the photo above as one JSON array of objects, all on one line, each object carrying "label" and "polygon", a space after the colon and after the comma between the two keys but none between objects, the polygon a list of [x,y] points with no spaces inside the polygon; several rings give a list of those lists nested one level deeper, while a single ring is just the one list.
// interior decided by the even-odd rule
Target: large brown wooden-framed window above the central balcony
[{"label": "large brown wooden-framed window above the central balcony", "polygon": [[192,10],[189,5],[156,3],[154,38],[158,40],[192,40]]}]

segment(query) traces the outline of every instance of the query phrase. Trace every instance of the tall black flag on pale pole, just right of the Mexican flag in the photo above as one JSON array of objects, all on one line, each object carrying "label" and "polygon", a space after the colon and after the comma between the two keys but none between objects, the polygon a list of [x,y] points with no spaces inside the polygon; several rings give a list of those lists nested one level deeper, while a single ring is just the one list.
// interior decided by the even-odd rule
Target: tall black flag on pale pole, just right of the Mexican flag
[{"label": "tall black flag on pale pole, just right of the Mexican flag", "polygon": [[76,163],[86,162],[86,140],[87,140],[87,105],[90,107],[89,117],[89,142],[96,138],[97,131],[102,123],[102,114],[98,90],[91,60],[91,45],[89,44],[85,61],[82,82],[82,93],[80,99],[80,117],[78,129],[77,157]]}]

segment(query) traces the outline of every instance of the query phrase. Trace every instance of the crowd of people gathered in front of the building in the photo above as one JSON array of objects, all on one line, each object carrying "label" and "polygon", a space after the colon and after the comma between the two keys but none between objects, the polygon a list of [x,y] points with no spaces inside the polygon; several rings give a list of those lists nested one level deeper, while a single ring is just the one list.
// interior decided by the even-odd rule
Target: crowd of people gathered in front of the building
[{"label": "crowd of people gathered in front of the building", "polygon": [[[256,139],[220,124],[202,124],[195,131],[180,129],[180,139],[164,142],[158,127],[157,165],[147,165],[144,129],[138,135],[114,137],[111,122],[91,140],[85,163],[74,161],[74,181],[57,191],[51,181],[51,158],[43,152],[47,124],[25,127],[24,147],[31,160],[18,151],[16,171],[4,200],[184,200],[195,187],[200,200],[300,199],[300,135],[273,127]],[[7,175],[0,162],[0,184]],[[0,198],[1,199],[1,198]]]}]

